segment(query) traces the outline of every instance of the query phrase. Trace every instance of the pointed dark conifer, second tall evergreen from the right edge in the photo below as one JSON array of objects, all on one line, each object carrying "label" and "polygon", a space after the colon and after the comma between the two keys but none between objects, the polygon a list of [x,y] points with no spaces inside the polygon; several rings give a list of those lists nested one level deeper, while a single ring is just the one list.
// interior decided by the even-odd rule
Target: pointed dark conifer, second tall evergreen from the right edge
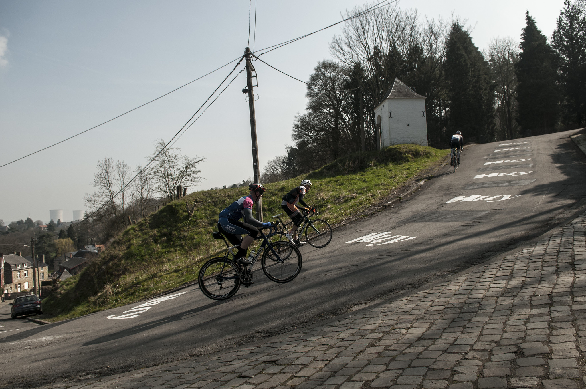
[{"label": "pointed dark conifer, second tall evergreen from the right edge", "polygon": [[519,125],[527,134],[548,134],[554,131],[558,117],[556,66],[546,37],[537,28],[527,11],[526,26],[521,34],[519,62],[516,64]]}]

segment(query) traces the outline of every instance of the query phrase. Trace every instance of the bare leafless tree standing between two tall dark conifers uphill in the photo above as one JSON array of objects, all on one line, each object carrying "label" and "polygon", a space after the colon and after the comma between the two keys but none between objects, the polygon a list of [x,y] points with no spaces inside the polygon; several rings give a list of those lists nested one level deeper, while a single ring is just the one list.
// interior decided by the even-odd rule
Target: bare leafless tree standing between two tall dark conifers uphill
[{"label": "bare leafless tree standing between two tall dark conifers uphill", "polygon": [[514,139],[519,132],[517,124],[517,75],[519,62],[518,43],[511,37],[496,38],[489,46],[489,66],[496,83],[495,105],[497,134],[501,139]]}]

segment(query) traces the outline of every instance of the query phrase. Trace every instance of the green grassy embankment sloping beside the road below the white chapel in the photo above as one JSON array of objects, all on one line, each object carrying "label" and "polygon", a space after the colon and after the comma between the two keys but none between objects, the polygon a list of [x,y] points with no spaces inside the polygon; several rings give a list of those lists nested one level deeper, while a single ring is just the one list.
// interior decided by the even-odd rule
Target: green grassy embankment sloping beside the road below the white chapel
[{"label": "green grassy embankment sloping beside the road below the white chapel", "polygon": [[[303,177],[265,185],[265,219],[281,213],[281,197],[309,178],[314,185],[306,202],[319,217],[336,224],[359,214],[391,194],[417,173],[435,165],[448,150],[396,145],[380,152],[340,158]],[[57,321],[142,301],[197,279],[199,265],[223,250],[214,241],[220,210],[247,188],[195,192],[167,204],[128,227],[81,274],[67,279],[43,302],[45,319]],[[185,201],[196,200],[189,217]]]}]

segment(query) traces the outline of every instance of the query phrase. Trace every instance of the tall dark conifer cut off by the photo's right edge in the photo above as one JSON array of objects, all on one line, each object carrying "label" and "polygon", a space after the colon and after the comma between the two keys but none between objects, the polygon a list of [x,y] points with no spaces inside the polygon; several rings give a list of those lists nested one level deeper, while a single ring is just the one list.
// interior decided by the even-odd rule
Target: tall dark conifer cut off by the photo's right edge
[{"label": "tall dark conifer cut off by the photo's right edge", "polygon": [[563,92],[561,119],[564,124],[580,124],[586,120],[586,19],[570,0],[564,1],[551,46]]}]

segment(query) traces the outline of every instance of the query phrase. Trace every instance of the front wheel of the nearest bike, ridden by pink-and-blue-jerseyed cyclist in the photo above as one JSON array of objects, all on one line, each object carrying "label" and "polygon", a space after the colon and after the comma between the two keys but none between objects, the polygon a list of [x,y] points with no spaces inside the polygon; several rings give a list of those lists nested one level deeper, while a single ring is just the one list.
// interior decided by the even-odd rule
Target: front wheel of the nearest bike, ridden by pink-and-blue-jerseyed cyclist
[{"label": "front wheel of the nearest bike, ridden by pink-and-blue-jerseyed cyclist", "polygon": [[[264,275],[274,282],[289,282],[301,271],[301,252],[289,241],[271,243],[265,248],[261,265]],[[276,255],[275,255],[276,254]]]}]

